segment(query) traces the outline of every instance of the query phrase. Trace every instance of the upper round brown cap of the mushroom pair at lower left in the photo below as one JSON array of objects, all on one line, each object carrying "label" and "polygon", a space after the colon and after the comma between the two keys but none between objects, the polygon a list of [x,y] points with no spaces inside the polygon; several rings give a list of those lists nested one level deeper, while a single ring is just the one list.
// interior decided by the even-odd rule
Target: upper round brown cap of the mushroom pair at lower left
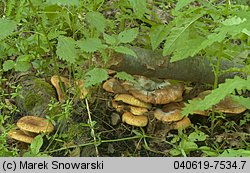
[{"label": "upper round brown cap of the mushroom pair at lower left", "polygon": [[45,118],[36,116],[24,116],[17,122],[17,127],[22,131],[32,133],[51,133],[54,130],[52,123]]}]

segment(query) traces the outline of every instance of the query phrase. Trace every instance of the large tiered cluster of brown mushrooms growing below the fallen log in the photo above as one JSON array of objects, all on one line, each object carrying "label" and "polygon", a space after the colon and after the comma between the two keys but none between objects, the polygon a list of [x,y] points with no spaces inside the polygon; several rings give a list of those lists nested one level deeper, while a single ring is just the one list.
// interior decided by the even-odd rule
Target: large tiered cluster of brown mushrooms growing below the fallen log
[{"label": "large tiered cluster of brown mushrooms growing below the fallen log", "polygon": [[112,106],[122,113],[123,122],[144,127],[148,125],[148,115],[153,113],[154,119],[170,125],[172,129],[186,128],[191,124],[188,117],[181,116],[183,83],[151,80],[137,75],[134,78],[137,83],[113,77],[103,84],[104,90],[116,94]]}]

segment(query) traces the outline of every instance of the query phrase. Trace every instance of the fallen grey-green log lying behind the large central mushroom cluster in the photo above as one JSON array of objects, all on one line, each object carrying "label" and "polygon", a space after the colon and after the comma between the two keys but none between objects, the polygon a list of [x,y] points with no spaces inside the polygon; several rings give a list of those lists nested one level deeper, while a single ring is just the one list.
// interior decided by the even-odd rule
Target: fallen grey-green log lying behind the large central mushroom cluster
[{"label": "fallen grey-green log lying behind the large central mushroom cluster", "polygon": [[[115,53],[109,61],[110,69],[151,78],[214,83],[215,76],[208,58],[194,57],[171,63],[170,57],[162,56],[160,51],[134,47],[132,49],[137,57]],[[220,63],[220,70],[232,67],[241,68],[242,66],[225,59]],[[233,78],[235,75],[241,74],[232,72],[220,75],[219,83],[224,82],[227,78]]]}]

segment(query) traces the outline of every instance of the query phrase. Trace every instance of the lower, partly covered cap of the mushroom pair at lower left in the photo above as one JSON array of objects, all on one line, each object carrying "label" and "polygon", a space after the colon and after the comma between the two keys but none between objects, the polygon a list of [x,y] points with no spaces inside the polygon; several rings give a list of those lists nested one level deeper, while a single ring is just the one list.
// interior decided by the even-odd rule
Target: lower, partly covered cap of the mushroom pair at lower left
[{"label": "lower, partly covered cap of the mushroom pair at lower left", "polygon": [[10,130],[8,133],[8,136],[12,139],[24,142],[24,143],[28,143],[30,144],[34,137],[30,137],[28,135],[26,135],[22,130]]}]

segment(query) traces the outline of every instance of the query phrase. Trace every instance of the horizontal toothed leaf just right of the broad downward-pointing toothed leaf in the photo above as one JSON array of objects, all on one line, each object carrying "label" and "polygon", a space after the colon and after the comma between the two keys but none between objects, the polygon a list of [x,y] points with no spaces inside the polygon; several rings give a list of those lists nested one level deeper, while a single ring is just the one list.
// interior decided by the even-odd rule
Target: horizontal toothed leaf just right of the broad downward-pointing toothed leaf
[{"label": "horizontal toothed leaf just right of the broad downward-pointing toothed leaf", "polygon": [[88,53],[93,53],[106,47],[102,44],[99,38],[87,38],[86,40],[80,40],[77,41],[77,45],[82,51]]}]

